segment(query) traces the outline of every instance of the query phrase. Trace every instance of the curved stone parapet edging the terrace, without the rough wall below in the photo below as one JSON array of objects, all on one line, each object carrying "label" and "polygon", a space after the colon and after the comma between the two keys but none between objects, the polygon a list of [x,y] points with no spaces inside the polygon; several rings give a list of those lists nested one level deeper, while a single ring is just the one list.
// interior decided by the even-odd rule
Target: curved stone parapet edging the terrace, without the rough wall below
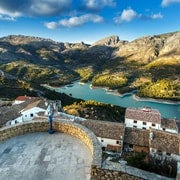
[{"label": "curved stone parapet edging the terrace, without the rough wall below", "polygon": [[[92,153],[92,166],[101,167],[102,162],[102,150],[101,145],[92,131],[86,127],[74,123],[56,120],[53,123],[55,131],[63,132],[79,138],[85,143]],[[47,120],[29,121],[19,123],[13,126],[8,126],[0,129],[0,141],[8,138],[33,132],[48,131],[49,122]]]}]

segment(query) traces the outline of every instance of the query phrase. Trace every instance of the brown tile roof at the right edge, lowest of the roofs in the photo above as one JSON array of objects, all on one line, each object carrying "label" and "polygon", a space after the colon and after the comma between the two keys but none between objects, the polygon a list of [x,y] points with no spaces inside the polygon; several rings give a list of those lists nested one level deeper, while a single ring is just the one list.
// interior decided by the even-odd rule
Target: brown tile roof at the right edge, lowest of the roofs
[{"label": "brown tile roof at the right edge, lowest of the roofs", "polygon": [[180,134],[152,130],[151,148],[167,153],[180,154]]}]

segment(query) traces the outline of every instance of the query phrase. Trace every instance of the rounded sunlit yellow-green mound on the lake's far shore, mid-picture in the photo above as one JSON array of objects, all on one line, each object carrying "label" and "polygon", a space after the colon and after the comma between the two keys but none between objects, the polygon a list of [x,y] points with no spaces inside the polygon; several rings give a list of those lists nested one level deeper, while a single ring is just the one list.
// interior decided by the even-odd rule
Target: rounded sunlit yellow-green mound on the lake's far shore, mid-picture
[{"label": "rounded sunlit yellow-green mound on the lake's far shore, mid-picture", "polygon": [[103,73],[98,74],[92,79],[93,86],[109,87],[116,89],[125,86],[127,83],[127,77],[122,73]]}]

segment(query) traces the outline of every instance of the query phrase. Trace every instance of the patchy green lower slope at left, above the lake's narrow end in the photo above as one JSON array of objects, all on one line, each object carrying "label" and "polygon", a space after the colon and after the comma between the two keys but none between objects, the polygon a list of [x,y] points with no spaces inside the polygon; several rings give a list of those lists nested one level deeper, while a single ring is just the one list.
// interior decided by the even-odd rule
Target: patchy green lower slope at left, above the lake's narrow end
[{"label": "patchy green lower slope at left, above the lake's narrow end", "polygon": [[1,65],[0,68],[23,81],[32,84],[63,85],[75,80],[75,73],[60,70],[51,66],[44,67],[28,63],[26,61],[16,61]]}]

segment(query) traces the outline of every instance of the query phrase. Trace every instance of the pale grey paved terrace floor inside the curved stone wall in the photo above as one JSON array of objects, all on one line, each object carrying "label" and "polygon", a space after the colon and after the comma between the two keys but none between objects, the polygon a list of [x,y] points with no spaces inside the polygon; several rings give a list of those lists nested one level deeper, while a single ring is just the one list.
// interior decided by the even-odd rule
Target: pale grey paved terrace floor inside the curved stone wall
[{"label": "pale grey paved terrace floor inside the curved stone wall", "polygon": [[87,180],[92,156],[79,139],[45,132],[0,142],[1,180]]}]

